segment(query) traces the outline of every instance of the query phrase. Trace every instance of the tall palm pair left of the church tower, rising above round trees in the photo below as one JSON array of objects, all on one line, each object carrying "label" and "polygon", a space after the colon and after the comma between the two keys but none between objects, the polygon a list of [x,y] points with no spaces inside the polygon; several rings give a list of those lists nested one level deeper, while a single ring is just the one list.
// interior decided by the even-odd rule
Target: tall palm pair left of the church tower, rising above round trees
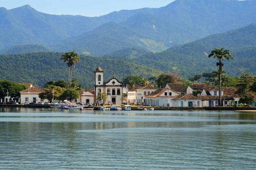
[{"label": "tall palm pair left of the church tower, rising above round trees", "polygon": [[68,64],[68,85],[70,87],[71,85],[71,69],[72,67],[75,67],[75,62],[78,63],[80,61],[80,58],[78,57],[77,53],[75,51],[72,52],[65,52],[65,54],[62,55],[61,60],[64,60],[64,62],[67,62]]}]

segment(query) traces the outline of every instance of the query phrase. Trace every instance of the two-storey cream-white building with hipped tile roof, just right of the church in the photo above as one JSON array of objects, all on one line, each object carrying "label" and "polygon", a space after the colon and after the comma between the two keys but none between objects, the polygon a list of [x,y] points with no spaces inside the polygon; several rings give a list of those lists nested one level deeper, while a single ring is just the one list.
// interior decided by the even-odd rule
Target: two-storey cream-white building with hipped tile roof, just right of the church
[{"label": "two-storey cream-white building with hipped tile roof, just right of the church", "polygon": [[144,105],[145,95],[151,94],[156,90],[157,88],[151,85],[136,86],[136,88],[127,92],[128,103]]}]

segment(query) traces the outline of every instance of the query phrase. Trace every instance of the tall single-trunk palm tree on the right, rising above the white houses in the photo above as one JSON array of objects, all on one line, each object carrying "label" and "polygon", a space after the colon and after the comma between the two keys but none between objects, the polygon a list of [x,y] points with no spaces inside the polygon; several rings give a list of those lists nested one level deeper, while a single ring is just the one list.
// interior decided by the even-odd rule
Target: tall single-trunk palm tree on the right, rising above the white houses
[{"label": "tall single-trunk palm tree on the right, rising above the white houses", "polygon": [[213,58],[217,58],[219,60],[219,62],[216,64],[217,66],[219,66],[218,69],[218,78],[219,78],[219,106],[221,106],[221,74],[222,74],[222,67],[223,67],[223,63],[222,61],[224,59],[233,59],[233,56],[230,54],[229,50],[224,50],[224,47],[222,48],[215,48],[214,50],[211,51],[211,53],[209,54],[208,58],[213,57]]}]

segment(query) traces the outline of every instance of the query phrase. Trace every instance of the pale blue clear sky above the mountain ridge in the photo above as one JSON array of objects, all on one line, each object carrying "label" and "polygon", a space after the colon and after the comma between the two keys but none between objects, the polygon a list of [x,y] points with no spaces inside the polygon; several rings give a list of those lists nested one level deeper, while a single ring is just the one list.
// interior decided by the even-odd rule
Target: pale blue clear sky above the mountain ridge
[{"label": "pale blue clear sky above the mountain ridge", "polygon": [[100,16],[113,11],[133,10],[143,7],[158,8],[174,0],[0,0],[0,7],[10,10],[30,5],[35,10],[57,15]]}]

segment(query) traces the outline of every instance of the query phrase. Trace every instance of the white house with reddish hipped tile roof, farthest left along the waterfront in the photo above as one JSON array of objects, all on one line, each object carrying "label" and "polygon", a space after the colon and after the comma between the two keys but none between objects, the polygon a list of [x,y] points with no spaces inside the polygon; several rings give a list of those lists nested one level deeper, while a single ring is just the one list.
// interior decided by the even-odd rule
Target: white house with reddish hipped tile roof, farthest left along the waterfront
[{"label": "white house with reddish hipped tile roof, farthest left along the waterfront", "polygon": [[23,104],[25,102],[48,102],[47,99],[41,99],[39,97],[39,93],[44,92],[43,89],[40,89],[39,87],[32,86],[26,90],[23,90],[20,92],[20,104]]}]

